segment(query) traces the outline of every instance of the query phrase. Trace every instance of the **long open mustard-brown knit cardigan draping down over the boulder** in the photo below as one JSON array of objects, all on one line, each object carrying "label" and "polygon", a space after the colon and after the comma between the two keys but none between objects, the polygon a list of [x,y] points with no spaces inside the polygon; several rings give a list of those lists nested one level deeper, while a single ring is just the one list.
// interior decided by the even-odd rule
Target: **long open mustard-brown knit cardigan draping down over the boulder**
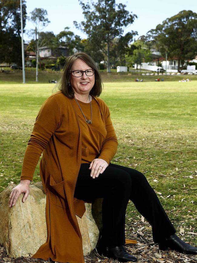
[{"label": "long open mustard-brown knit cardigan draping down over the boulder", "polygon": [[[102,99],[95,99],[107,130],[99,157],[107,154],[109,164],[117,150],[117,137],[107,105]],[[61,91],[57,92],[43,103],[23,160],[21,180],[32,180],[43,152],[40,177],[46,193],[47,241],[33,258],[84,263],[82,235],[76,215],[83,216],[85,202],[74,198],[81,146],[82,131],[73,100]]]}]

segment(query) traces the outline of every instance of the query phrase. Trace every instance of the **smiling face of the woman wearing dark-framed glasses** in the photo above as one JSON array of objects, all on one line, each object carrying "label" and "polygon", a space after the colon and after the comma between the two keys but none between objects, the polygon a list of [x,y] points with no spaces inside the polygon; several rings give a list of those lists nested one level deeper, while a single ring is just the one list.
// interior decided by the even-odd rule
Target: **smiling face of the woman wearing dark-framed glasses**
[{"label": "smiling face of the woman wearing dark-framed glasses", "polygon": [[[74,70],[82,70],[85,71],[87,69],[91,69],[83,60],[76,59],[75,62],[72,64],[71,71]],[[81,77],[75,77],[73,72],[70,73],[70,85],[74,90],[74,93],[77,94],[87,94],[89,95],[90,90],[94,86],[95,83],[95,75],[87,76],[85,72]]]}]

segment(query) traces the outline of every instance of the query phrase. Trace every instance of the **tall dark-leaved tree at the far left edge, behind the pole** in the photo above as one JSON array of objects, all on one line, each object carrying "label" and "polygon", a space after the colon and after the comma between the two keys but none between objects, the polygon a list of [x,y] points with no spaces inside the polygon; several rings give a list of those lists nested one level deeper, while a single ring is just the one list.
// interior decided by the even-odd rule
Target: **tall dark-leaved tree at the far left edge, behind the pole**
[{"label": "tall dark-leaved tree at the far left edge, behind the pole", "polygon": [[[26,20],[26,1],[22,0],[23,27]],[[0,62],[22,63],[20,0],[0,1]]]}]

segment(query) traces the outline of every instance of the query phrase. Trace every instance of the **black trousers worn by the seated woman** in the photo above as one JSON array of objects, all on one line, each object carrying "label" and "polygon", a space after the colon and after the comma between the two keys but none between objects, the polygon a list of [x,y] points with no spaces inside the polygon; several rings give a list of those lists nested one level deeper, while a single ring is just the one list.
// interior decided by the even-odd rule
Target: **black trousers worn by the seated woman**
[{"label": "black trousers worn by the seated woman", "polygon": [[142,173],[110,163],[99,177],[93,179],[88,168],[89,164],[81,164],[74,197],[83,201],[103,198],[102,241],[106,245],[125,244],[125,214],[129,200],[151,224],[155,243],[176,232]]}]

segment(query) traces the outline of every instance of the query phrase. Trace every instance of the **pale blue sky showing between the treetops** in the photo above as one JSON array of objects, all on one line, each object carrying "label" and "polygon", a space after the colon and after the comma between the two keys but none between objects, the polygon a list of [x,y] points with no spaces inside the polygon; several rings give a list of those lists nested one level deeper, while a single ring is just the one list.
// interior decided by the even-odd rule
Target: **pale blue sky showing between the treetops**
[{"label": "pale blue sky showing between the treetops", "polygon": [[[117,0],[116,2],[125,4],[126,10],[138,16],[138,19],[126,28],[124,33],[133,30],[137,31],[139,36],[145,35],[150,29],[155,29],[156,25],[162,23],[163,20],[178,14],[182,10],[192,10],[197,13],[196,0]],[[28,15],[34,8],[47,10],[50,23],[43,31],[53,31],[54,34],[58,34],[68,26],[76,35],[86,38],[86,35],[73,25],[73,21],[79,23],[84,20],[78,0],[26,0],[26,5]],[[25,29],[29,30],[31,28],[33,28],[32,23],[26,21]],[[137,38],[138,36],[136,36]],[[27,41],[28,36],[24,35],[24,39]]]}]

